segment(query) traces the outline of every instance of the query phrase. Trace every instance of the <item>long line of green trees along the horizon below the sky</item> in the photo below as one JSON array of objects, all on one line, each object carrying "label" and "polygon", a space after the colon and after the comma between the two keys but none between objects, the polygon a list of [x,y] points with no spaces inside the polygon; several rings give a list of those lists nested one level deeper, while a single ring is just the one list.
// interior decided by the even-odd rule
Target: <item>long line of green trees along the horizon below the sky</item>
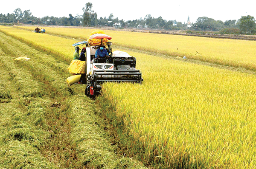
[{"label": "long line of green trees along the horizon below the sky", "polygon": [[[15,9],[14,13],[0,14],[0,23],[9,24],[31,24],[31,25],[64,25],[64,26],[111,26],[117,28],[150,28],[163,30],[186,30],[193,31],[220,31],[223,34],[256,34],[256,23],[254,17],[247,15],[241,16],[239,20],[214,20],[208,17],[199,17],[196,23],[188,27],[187,23],[177,22],[176,20],[164,20],[161,16],[151,17],[147,14],[144,19],[119,20],[111,13],[108,17],[100,17],[92,10],[93,4],[88,2],[82,8],[83,15],[75,17],[69,14],[69,17],[34,17],[30,10],[22,11]],[[189,20],[189,18],[188,18]]]}]

